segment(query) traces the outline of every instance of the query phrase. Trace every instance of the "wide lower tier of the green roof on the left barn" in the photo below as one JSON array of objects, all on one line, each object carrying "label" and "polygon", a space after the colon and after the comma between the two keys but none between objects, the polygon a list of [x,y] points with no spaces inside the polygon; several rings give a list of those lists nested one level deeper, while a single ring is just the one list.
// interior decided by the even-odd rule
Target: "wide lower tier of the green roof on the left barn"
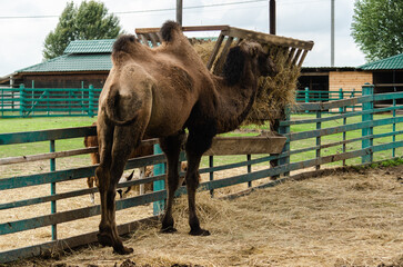
[{"label": "wide lower tier of the green roof on the left barn", "polygon": [[17,72],[59,72],[110,70],[112,68],[110,53],[63,55]]}]

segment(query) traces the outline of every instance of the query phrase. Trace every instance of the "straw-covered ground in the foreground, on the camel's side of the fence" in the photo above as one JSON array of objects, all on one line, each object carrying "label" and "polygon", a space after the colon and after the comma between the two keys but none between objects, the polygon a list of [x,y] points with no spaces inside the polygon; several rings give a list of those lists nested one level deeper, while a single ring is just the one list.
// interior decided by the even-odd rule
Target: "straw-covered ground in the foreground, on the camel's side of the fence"
[{"label": "straw-covered ground in the foreground, on the camel's side of the fence", "polygon": [[233,200],[201,192],[201,224],[211,236],[188,235],[180,198],[178,233],[143,226],[124,240],[132,255],[94,244],[10,266],[403,266],[402,177],[403,166],[337,169]]}]

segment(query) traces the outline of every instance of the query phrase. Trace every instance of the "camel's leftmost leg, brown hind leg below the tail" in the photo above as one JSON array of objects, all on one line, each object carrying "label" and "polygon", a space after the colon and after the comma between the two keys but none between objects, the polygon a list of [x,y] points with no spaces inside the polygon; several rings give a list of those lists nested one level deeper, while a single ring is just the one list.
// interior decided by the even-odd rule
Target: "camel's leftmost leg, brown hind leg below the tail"
[{"label": "camel's leftmost leg, brown hind leg below the tail", "polygon": [[[99,189],[101,196],[101,222],[98,240],[101,245],[112,246],[118,254],[130,254],[132,248],[123,246],[115,224],[115,195],[117,185],[123,174],[124,166],[129,159],[131,150],[141,140],[142,132],[133,131],[133,126],[114,127],[112,139],[107,139],[101,146],[101,164],[97,169],[99,178]],[[110,137],[111,132],[104,132]],[[113,145],[112,145],[113,142]]]}]

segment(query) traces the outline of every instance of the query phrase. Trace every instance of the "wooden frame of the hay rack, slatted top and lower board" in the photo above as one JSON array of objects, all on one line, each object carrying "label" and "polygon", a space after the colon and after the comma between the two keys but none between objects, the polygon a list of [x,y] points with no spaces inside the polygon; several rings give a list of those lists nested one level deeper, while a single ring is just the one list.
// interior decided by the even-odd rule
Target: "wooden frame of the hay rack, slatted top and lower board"
[{"label": "wooden frame of the hay rack, slatted top and lower board", "polygon": [[[221,31],[206,63],[208,69],[219,75],[231,46],[242,40],[256,41],[271,52],[273,57],[283,53],[285,66],[301,68],[306,53],[312,50],[313,41],[302,41],[288,37],[273,36],[263,32],[244,30],[230,26],[182,27],[183,31]],[[140,28],[135,33],[143,44],[158,47],[162,42],[160,28]],[[215,137],[212,147],[205,155],[233,155],[234,147],[242,147],[244,154],[280,154],[286,138],[278,135],[261,135],[259,137]]]}]

